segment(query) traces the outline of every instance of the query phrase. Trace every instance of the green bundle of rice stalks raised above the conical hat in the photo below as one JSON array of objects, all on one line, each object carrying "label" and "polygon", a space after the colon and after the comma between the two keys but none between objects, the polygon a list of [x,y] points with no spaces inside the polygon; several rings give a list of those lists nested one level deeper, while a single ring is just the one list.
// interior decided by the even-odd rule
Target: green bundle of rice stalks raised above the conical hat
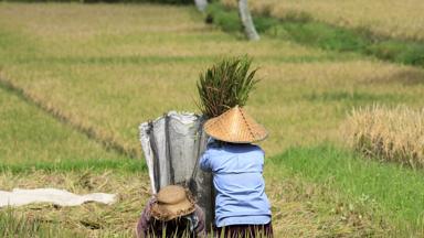
[{"label": "green bundle of rice stalks raised above the conical hat", "polygon": [[224,58],[200,75],[198,107],[206,118],[246,104],[248,94],[258,83],[255,79],[257,68],[250,72],[251,63],[246,56]]}]

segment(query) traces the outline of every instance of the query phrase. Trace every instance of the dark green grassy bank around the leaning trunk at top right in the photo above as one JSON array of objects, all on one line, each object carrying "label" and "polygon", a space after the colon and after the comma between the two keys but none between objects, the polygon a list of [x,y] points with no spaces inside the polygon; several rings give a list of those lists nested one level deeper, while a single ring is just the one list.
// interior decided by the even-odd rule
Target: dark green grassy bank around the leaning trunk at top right
[{"label": "dark green grassy bank around the leaning trunk at top right", "polygon": [[[242,28],[236,10],[219,3],[209,7],[208,13],[223,31],[240,34]],[[287,14],[275,19],[255,15],[257,31],[272,37],[294,41],[304,45],[337,52],[356,52],[401,64],[424,67],[424,43],[375,36],[363,29],[346,29],[314,21],[311,18]]]}]

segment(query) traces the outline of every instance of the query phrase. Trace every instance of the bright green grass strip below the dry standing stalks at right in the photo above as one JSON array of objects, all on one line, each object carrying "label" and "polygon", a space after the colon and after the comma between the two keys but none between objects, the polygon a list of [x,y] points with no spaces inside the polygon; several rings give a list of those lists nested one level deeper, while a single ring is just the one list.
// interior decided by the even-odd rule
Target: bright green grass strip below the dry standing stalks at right
[{"label": "bright green grass strip below the dry standing stalks at right", "polygon": [[424,232],[424,172],[379,163],[325,143],[292,148],[272,159],[314,183],[328,185],[365,205],[377,204],[396,232]]}]

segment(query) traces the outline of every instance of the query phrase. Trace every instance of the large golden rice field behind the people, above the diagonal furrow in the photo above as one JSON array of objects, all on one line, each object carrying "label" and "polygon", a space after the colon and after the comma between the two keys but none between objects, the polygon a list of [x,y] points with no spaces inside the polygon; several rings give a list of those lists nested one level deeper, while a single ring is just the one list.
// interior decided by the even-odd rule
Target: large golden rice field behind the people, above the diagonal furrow
[{"label": "large golden rice field behind the people, above the diagonal furrow", "polygon": [[261,68],[247,109],[272,132],[268,154],[333,138],[351,106],[424,100],[422,69],[279,40],[246,43],[194,9],[3,3],[0,15],[1,80],[138,156],[137,126],[171,109],[197,111],[195,80],[224,55],[248,54]]}]

